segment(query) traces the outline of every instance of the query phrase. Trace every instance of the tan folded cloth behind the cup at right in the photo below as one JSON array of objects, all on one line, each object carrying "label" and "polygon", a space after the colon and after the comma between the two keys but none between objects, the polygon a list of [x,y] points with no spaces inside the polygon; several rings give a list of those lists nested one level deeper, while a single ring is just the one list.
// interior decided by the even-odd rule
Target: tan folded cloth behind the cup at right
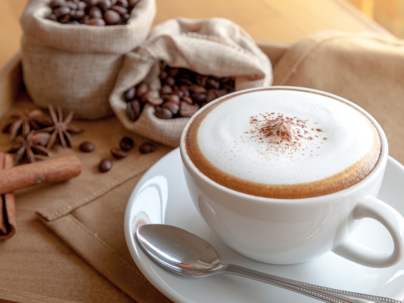
[{"label": "tan folded cloth behind the cup at right", "polygon": [[373,33],[321,31],[293,44],[274,66],[274,85],[310,87],[347,98],[386,132],[390,155],[404,159],[404,41]]}]

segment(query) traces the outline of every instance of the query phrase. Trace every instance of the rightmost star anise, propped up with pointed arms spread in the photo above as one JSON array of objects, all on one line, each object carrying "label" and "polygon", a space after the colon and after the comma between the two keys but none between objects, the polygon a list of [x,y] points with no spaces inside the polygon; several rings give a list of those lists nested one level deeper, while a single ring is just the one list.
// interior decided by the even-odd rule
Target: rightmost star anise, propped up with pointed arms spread
[{"label": "rightmost star anise, propped up with pointed arms spread", "polygon": [[59,138],[60,143],[63,147],[73,147],[72,134],[78,134],[83,132],[80,127],[69,125],[73,118],[73,112],[70,112],[65,119],[63,119],[62,109],[58,107],[58,114],[56,114],[52,105],[49,105],[49,114],[52,119],[52,126],[43,128],[41,131],[51,133],[51,137],[47,142],[46,148],[51,149],[55,144],[56,139]]}]

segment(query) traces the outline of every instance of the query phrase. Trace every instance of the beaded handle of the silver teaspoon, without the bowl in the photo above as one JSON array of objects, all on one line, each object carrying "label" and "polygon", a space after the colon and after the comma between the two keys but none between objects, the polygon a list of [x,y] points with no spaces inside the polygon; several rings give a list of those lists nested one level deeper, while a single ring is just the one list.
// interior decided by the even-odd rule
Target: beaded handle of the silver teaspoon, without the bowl
[{"label": "beaded handle of the silver teaspoon, without the bowl", "polygon": [[375,296],[371,294],[357,293],[345,290],[339,290],[329,287],[323,287],[305,282],[299,282],[287,278],[278,277],[262,273],[259,271],[244,268],[238,265],[223,263],[220,272],[227,272],[238,276],[248,277],[254,280],[266,282],[271,285],[289,289],[307,296],[316,298],[324,302],[331,303],[404,303],[404,301]]}]

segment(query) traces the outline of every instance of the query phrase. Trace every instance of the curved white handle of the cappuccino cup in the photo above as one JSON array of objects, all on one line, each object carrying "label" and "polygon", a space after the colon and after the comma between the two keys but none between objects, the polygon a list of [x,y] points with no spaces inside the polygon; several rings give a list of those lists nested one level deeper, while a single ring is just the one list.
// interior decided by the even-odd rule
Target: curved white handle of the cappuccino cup
[{"label": "curved white handle of the cappuccino cup", "polygon": [[394,249],[389,254],[371,249],[358,241],[348,238],[332,249],[335,254],[369,267],[388,267],[404,257],[404,218],[394,208],[383,201],[368,196],[360,201],[352,212],[352,218],[371,218],[379,221],[390,233]]}]

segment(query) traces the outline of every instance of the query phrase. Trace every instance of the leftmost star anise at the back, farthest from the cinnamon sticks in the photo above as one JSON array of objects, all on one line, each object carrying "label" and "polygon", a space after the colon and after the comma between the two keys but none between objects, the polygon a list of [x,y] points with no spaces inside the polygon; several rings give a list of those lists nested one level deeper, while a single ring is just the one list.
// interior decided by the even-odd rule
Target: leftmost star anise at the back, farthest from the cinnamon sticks
[{"label": "leftmost star anise at the back, farthest from the cinnamon sticks", "polygon": [[38,109],[28,111],[24,109],[21,114],[12,115],[3,128],[3,132],[10,133],[10,140],[14,140],[17,135],[26,136],[31,130],[39,130],[41,127],[49,125],[51,121]]}]

